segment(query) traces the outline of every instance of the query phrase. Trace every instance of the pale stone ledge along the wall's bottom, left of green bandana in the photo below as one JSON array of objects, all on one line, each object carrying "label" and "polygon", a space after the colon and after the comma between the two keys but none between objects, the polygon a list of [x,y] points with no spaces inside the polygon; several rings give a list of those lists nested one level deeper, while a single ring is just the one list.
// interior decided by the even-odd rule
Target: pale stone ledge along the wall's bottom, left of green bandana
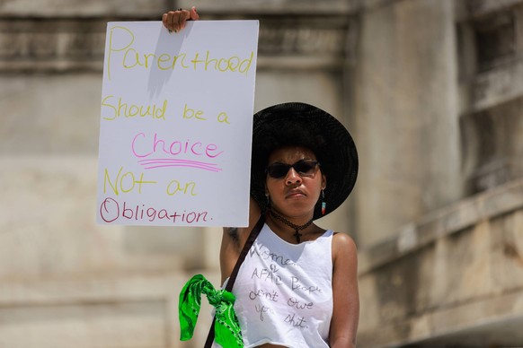
[{"label": "pale stone ledge along the wall's bottom, left of green bandana", "polygon": [[193,342],[178,342],[174,292],[185,282],[184,275],[162,272],[3,282],[0,345],[201,347],[210,319],[208,305],[202,306]]}]

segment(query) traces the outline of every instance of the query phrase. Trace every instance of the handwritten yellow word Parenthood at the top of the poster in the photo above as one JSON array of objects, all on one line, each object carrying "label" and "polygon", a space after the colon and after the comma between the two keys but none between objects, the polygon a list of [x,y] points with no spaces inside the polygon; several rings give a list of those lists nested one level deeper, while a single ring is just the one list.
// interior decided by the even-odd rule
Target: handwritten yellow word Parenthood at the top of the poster
[{"label": "handwritten yellow word Parenthood at the top of the poster", "polygon": [[[120,45],[113,42],[113,36],[126,37]],[[221,73],[231,72],[247,74],[253,66],[254,52],[251,51],[249,57],[214,57],[207,50],[203,53],[192,54],[170,52],[140,52],[133,46],[135,34],[125,27],[112,27],[109,34],[109,49],[107,57],[107,76],[111,80],[112,61],[125,69],[152,69],[168,71],[178,69],[191,69],[194,71],[217,71]]]}]

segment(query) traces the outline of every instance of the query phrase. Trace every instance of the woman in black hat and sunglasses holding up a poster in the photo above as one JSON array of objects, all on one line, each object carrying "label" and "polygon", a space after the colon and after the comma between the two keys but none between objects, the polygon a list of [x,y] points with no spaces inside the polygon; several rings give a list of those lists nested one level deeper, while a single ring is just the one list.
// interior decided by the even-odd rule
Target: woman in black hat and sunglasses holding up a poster
[{"label": "woman in black hat and sunglasses holding up a poster", "polygon": [[[175,32],[198,13],[164,13]],[[254,115],[250,222],[224,229],[226,283],[254,226],[262,231],[232,292],[245,347],[354,347],[359,319],[357,250],[347,234],[313,222],[349,196],[356,147],[324,110],[286,103]]]}]

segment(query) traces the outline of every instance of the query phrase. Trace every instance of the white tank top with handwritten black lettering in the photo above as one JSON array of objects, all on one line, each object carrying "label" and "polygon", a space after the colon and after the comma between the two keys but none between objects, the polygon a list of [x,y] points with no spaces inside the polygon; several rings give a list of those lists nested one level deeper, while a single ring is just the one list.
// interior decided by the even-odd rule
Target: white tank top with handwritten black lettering
[{"label": "white tank top with handwritten black lettering", "polygon": [[233,287],[245,348],[329,346],[332,234],[290,244],[263,226]]}]

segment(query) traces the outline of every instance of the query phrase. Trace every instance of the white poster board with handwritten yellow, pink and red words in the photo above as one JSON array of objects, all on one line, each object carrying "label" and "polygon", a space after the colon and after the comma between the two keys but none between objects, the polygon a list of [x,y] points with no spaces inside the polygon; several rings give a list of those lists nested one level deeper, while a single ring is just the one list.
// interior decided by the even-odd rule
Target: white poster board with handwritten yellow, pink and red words
[{"label": "white poster board with handwritten yellow, pink and red words", "polygon": [[97,222],[248,224],[258,28],[108,23]]}]

